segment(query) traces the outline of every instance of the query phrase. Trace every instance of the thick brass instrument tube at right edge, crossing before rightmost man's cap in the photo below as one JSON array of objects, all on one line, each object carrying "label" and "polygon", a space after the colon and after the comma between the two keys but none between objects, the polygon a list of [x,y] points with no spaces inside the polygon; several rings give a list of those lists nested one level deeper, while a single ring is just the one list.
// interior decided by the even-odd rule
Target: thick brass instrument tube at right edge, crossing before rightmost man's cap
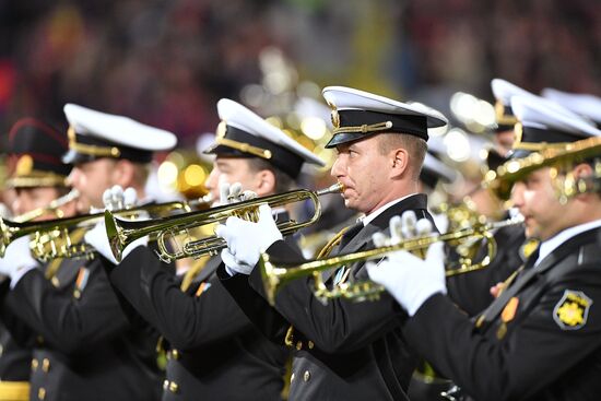
[{"label": "thick brass instrument tube at right edge, crossing before rightmost man's cap", "polygon": [[[526,157],[509,160],[496,172],[486,173],[482,185],[492,189],[499,199],[509,199],[515,182],[542,167],[552,167],[552,177],[558,178],[562,170],[581,163],[586,160],[601,156],[601,137],[582,139],[577,142],[563,144],[563,146],[550,146],[540,152],[530,153]],[[592,186],[597,187],[601,177],[601,164],[596,163]],[[565,203],[569,197],[590,191],[591,182],[586,179],[575,179],[569,174],[558,186],[558,198]]]}]

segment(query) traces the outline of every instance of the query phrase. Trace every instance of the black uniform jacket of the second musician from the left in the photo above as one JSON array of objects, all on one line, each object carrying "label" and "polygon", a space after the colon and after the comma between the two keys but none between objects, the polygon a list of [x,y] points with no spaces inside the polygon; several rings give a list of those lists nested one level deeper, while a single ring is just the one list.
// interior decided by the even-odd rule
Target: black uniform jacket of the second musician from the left
[{"label": "black uniform jacket of the second musician from the left", "polygon": [[99,258],[27,272],[2,311],[15,340],[35,339],[32,400],[158,399],[157,337],[128,322]]}]

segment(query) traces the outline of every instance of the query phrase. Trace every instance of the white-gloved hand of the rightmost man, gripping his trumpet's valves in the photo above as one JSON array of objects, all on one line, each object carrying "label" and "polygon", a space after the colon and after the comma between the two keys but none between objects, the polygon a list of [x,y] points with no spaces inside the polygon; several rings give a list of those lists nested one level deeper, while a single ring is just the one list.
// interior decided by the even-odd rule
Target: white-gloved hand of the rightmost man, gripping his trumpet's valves
[{"label": "white-gloved hand of the rightmost man, gripping his trumpet's valves", "polygon": [[[403,213],[403,222],[409,223],[409,226],[403,225],[400,228],[404,240],[415,235],[426,235],[432,231],[429,221],[422,219],[412,225],[414,219],[410,216],[405,219],[404,214],[406,213]],[[393,225],[397,225],[397,228],[393,228]],[[391,232],[398,231],[398,221],[396,223],[391,221],[390,227]],[[374,238],[374,243],[376,246],[382,246],[381,244],[386,240],[379,235]],[[366,268],[369,279],[384,285],[409,316],[415,315],[432,295],[447,293],[444,243],[433,244],[426,252],[425,260],[399,250],[389,253],[379,264],[367,263]]]}]

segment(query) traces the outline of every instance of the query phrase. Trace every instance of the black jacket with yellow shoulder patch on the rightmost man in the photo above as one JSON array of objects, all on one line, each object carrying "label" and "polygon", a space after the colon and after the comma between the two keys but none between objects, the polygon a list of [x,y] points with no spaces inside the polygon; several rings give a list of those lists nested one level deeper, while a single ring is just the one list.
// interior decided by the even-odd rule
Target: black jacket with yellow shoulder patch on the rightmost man
[{"label": "black jacket with yellow shoulder patch on the rightmost man", "polygon": [[529,280],[528,269],[520,273],[506,290],[520,288],[515,298],[481,329],[448,297],[432,296],[408,321],[408,340],[476,400],[598,400],[599,235],[566,240]]}]

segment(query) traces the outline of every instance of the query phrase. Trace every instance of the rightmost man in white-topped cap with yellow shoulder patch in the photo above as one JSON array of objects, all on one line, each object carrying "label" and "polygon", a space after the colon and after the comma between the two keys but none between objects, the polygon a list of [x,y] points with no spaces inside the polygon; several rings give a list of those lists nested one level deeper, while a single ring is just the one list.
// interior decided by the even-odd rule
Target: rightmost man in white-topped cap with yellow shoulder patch
[{"label": "rightmost man in white-topped cap with yellow shoulder patch", "polygon": [[[514,97],[511,108],[522,131],[496,184],[504,190],[512,185],[527,235],[541,240],[512,282],[473,321],[445,296],[440,243],[425,261],[391,253],[369,268],[369,276],[408,310],[410,343],[473,399],[596,400],[601,131],[541,99]],[[543,157],[570,149],[588,151],[555,163]]]}]

